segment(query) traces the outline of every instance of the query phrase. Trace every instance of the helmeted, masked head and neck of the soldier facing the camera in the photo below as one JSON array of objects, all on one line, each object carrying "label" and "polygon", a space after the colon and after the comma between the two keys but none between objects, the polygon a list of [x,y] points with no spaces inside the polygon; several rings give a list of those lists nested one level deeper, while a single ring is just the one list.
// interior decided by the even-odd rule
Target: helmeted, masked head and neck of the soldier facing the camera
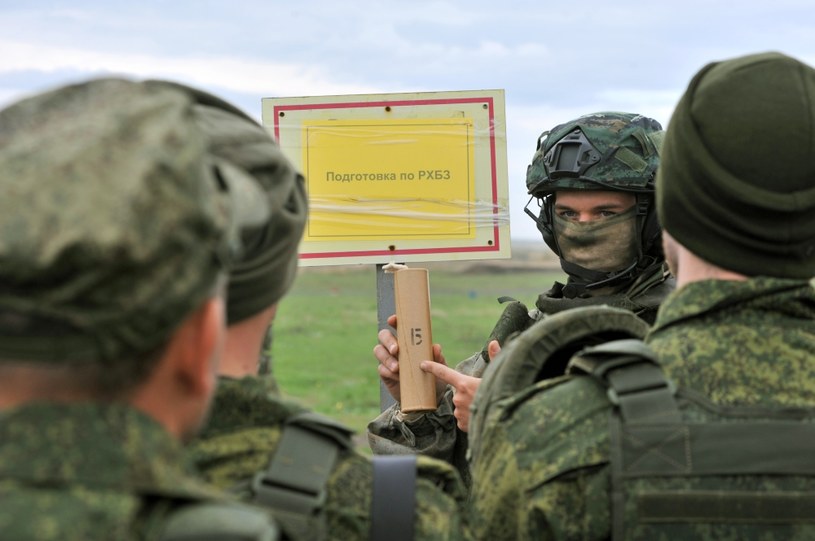
[{"label": "helmeted, masked head and neck of the soldier facing the camera", "polygon": [[526,175],[540,210],[524,210],[568,275],[541,295],[540,311],[609,304],[653,322],[673,289],[654,209],[661,130],[651,118],[606,112],[540,137]]}]

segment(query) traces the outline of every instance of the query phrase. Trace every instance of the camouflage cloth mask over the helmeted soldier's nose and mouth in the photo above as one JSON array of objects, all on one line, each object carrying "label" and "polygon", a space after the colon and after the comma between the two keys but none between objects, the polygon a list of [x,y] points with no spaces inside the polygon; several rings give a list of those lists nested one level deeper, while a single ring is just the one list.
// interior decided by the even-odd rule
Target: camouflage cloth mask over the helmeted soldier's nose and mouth
[{"label": "camouflage cloth mask over the helmeted soldier's nose and mouth", "polygon": [[572,222],[555,215],[554,226],[560,256],[569,263],[614,272],[637,259],[636,206],[590,222]]}]

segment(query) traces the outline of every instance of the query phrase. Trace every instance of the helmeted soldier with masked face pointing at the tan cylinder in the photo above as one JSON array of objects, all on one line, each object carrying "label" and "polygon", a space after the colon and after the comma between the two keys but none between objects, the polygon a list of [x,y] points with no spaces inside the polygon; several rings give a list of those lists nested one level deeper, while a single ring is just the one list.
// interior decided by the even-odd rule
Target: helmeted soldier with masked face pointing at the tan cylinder
[{"label": "helmeted soldier with masked face pointing at the tan cylinder", "polygon": [[530,203],[537,200],[540,211],[526,212],[560,257],[566,284],[556,282],[532,311],[510,303],[484,350],[456,370],[444,365],[435,346],[436,363],[424,365],[440,383],[434,412],[399,410],[398,346],[389,331],[381,331],[374,354],[380,378],[397,404],[368,426],[375,453],[420,452],[441,458],[456,465],[469,482],[469,405],[478,378],[507,336],[548,314],[579,306],[617,306],[653,321],[674,285],[664,265],[653,204],[661,130],[657,121],[641,115],[605,112],[543,133],[526,177]]}]

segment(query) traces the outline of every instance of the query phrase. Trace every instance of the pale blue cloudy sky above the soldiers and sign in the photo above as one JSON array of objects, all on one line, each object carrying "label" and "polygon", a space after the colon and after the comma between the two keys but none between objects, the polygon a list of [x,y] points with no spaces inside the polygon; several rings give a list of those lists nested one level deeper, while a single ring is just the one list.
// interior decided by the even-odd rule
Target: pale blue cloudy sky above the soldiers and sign
[{"label": "pale blue cloudy sky above the soldiers and sign", "polygon": [[0,0],[0,106],[102,74],[262,97],[504,89],[511,231],[537,239],[538,135],[620,110],[667,125],[704,64],[776,50],[815,65],[813,0]]}]

